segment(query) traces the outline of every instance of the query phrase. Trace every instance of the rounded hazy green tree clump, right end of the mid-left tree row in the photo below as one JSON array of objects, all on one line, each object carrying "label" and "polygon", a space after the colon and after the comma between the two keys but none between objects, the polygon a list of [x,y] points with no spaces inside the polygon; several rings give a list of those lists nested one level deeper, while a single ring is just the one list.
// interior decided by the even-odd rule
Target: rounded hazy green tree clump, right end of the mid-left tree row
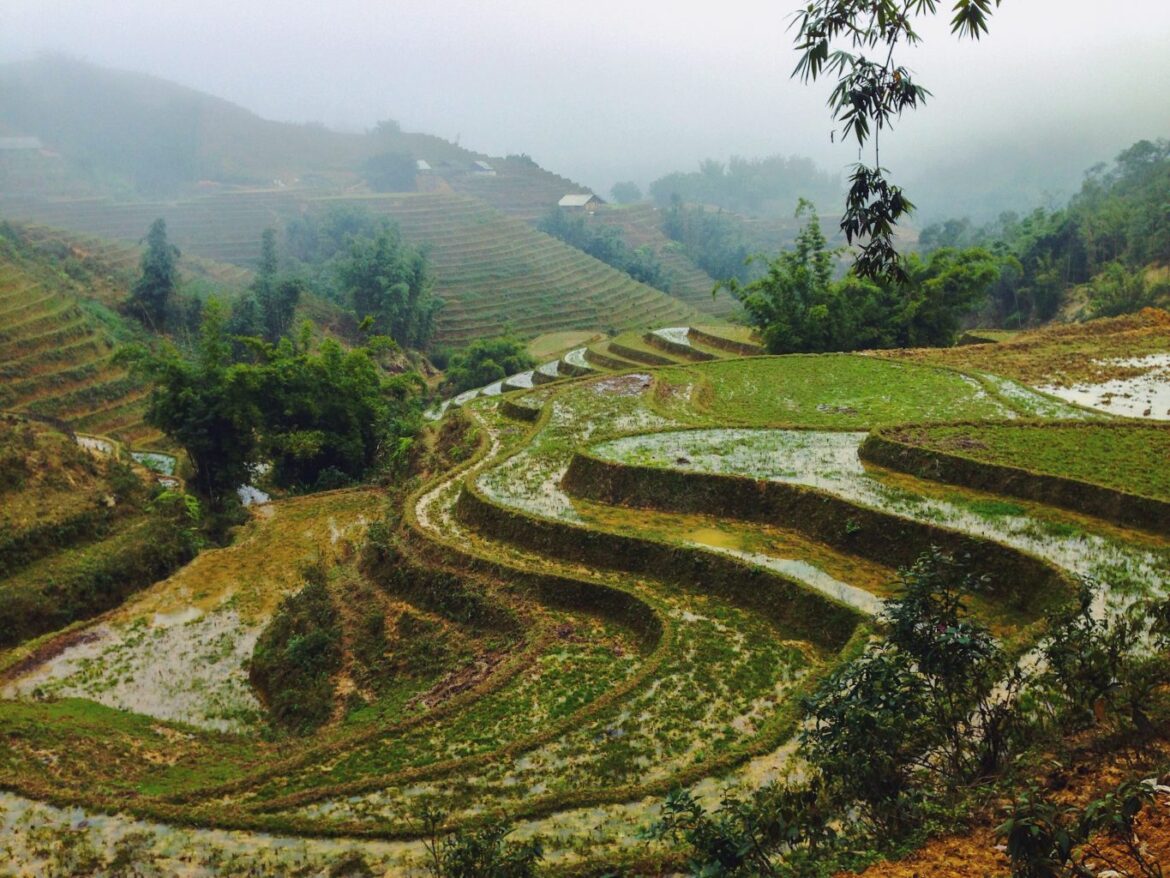
[{"label": "rounded hazy green tree clump, right end of the mid-left tree row", "polygon": [[425,348],[434,335],[442,301],[431,293],[426,255],[402,242],[398,229],[351,238],[337,265],[346,304],[374,332],[404,348]]}]

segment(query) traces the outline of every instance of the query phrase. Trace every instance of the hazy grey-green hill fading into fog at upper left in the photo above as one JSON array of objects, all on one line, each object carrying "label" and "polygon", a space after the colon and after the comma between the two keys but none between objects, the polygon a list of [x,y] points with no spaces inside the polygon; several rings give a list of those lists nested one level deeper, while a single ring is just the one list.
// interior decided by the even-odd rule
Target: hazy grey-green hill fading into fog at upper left
[{"label": "hazy grey-green hill fading into fog at upper left", "polygon": [[40,150],[0,150],[6,194],[177,194],[200,185],[360,184],[376,156],[432,165],[482,156],[385,124],[355,135],[262,119],[227,101],[138,73],[46,56],[0,66],[0,136]]}]

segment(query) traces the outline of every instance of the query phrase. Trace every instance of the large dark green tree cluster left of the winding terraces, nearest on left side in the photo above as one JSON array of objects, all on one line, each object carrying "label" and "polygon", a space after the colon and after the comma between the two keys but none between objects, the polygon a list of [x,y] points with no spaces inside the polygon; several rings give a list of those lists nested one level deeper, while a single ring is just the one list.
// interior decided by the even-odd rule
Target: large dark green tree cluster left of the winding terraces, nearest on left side
[{"label": "large dark green tree cluster left of the winding terraces, nearest on left side", "polygon": [[305,324],[296,341],[245,339],[239,358],[238,341],[212,300],[194,356],[171,344],[119,354],[153,382],[146,419],[186,450],[190,483],[212,509],[229,507],[260,462],[277,486],[323,488],[407,453],[425,385],[414,372],[384,377],[374,356],[387,342],[344,350],[326,339],[314,349]]}]

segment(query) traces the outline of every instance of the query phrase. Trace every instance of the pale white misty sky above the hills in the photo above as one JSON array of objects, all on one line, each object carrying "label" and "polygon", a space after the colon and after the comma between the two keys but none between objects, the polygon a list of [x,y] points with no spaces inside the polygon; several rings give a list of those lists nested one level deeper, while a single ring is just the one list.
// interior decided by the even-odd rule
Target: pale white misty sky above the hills
[{"label": "pale white misty sky above the hills", "polygon": [[[833,171],[827,83],[789,78],[797,0],[2,0],[0,60],[40,49],[142,70],[262,116],[395,118],[528,152],[606,193],[698,159],[807,155]],[[1170,2],[1005,0],[961,43],[945,16],[906,56],[934,91],[883,143],[904,176],[1038,157],[1047,170],[1170,136]],[[1059,153],[1045,162],[1048,152]],[[1067,194],[1067,193],[1064,193]]]}]

